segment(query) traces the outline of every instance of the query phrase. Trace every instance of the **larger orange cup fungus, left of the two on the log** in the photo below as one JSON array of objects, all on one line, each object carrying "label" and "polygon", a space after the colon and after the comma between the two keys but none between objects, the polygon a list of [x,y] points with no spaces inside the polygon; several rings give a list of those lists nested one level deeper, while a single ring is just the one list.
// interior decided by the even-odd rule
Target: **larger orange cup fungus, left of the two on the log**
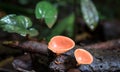
[{"label": "larger orange cup fungus, left of the two on the log", "polygon": [[65,36],[54,36],[48,43],[48,49],[56,54],[67,52],[74,46],[74,41]]}]

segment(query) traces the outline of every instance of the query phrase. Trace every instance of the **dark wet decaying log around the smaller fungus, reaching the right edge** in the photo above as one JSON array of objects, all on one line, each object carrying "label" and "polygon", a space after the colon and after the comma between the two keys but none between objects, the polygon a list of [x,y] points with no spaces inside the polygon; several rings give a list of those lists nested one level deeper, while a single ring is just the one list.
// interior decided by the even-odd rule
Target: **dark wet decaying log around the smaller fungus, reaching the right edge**
[{"label": "dark wet decaying log around the smaller fungus, reaching the right edge", "polygon": [[[76,66],[76,60],[74,57],[74,51],[77,48],[84,48],[88,50],[94,57],[94,61],[90,65],[80,65]],[[60,61],[62,58],[69,56],[70,63],[66,64],[65,61]],[[62,57],[62,58],[61,58]],[[60,59],[61,58],[61,59]],[[59,59],[59,61],[58,61]],[[56,60],[58,63],[56,63]],[[88,46],[76,46],[72,50],[58,56],[50,64],[50,68],[54,70],[53,72],[66,72],[70,69],[71,65],[73,68],[79,69],[81,72],[115,72],[120,70],[120,40],[112,40],[103,43],[97,43]],[[72,62],[72,63],[71,63]],[[61,67],[62,66],[62,67]],[[66,68],[67,67],[67,68]]]}]

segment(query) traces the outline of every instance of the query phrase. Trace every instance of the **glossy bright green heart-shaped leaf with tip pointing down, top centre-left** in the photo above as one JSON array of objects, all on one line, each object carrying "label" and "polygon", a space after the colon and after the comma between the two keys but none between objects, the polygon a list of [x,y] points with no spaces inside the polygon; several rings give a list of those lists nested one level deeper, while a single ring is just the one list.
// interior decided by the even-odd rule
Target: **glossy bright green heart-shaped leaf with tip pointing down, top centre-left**
[{"label": "glossy bright green heart-shaped leaf with tip pointing down, top centre-left", "polygon": [[57,9],[47,1],[41,1],[36,5],[35,15],[37,19],[45,19],[45,23],[51,28],[57,19]]}]

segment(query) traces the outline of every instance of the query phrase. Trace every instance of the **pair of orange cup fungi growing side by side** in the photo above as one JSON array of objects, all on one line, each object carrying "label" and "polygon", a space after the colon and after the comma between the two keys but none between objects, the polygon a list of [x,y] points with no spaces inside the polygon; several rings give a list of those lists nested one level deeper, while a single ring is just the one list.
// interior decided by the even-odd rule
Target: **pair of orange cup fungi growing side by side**
[{"label": "pair of orange cup fungi growing side by side", "polygon": [[[72,48],[74,48],[74,46],[75,42],[66,36],[54,36],[48,43],[48,49],[50,49],[57,55],[71,50]],[[92,55],[84,49],[76,49],[74,51],[74,56],[78,65],[91,64],[93,62]]]}]

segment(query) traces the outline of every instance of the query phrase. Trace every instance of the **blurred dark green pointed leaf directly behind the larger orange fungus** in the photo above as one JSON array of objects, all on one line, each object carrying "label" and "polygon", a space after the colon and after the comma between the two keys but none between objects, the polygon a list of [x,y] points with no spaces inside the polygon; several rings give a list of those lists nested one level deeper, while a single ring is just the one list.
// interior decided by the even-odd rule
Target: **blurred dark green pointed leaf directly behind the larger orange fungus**
[{"label": "blurred dark green pointed leaf directly behind the larger orange fungus", "polygon": [[68,34],[66,34],[69,37],[73,37],[74,34],[74,20],[75,15],[70,14],[69,16],[63,18],[61,21],[58,22],[58,24],[50,31],[50,33],[47,36],[47,40],[52,38],[55,35],[61,35],[63,32],[67,31]]}]

